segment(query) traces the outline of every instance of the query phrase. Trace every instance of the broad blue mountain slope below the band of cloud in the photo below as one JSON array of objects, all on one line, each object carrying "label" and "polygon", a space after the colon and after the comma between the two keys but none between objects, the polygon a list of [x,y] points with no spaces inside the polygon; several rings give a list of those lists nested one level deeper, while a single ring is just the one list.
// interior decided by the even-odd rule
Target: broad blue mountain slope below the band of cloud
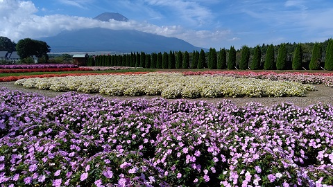
[{"label": "broad blue mountain slope below the band of cloud", "polygon": [[[110,30],[107,28],[85,28],[65,30],[53,37],[40,40],[51,47],[52,53],[112,51],[118,53],[200,51],[201,48],[176,37],[164,37],[138,30]],[[207,50],[204,48],[204,50]]]}]

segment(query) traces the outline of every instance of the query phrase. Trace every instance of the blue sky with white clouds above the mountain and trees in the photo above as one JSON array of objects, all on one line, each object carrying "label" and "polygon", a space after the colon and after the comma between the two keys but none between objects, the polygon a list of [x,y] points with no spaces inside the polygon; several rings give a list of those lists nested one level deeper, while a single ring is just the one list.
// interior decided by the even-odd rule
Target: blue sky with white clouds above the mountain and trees
[{"label": "blue sky with white clouds above the mountain and trees", "polygon": [[[92,19],[117,12],[128,22]],[[332,0],[0,0],[0,36],[17,42],[80,28],[134,29],[204,48],[324,42]]]}]

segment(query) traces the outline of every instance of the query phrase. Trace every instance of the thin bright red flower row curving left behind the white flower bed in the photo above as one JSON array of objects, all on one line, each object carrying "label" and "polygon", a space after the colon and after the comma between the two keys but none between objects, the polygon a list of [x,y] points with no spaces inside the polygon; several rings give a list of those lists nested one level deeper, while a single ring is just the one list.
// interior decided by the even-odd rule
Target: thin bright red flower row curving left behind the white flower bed
[{"label": "thin bright red flower row curving left behind the white flower bed", "polygon": [[20,75],[8,76],[0,78],[0,82],[16,81],[22,78],[51,78],[51,77],[66,77],[66,76],[81,76],[81,75],[139,75],[148,72],[125,72],[125,73],[63,73],[63,74],[44,74],[44,75]]}]

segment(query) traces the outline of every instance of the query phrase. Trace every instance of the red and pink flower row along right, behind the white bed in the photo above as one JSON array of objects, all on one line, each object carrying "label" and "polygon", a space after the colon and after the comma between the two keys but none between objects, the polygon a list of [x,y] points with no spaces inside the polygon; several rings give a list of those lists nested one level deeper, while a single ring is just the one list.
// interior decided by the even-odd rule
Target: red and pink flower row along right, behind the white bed
[{"label": "red and pink flower row along right, behind the white bed", "polygon": [[300,82],[302,84],[323,84],[326,87],[333,87],[333,73],[300,73],[284,72],[275,73],[274,71],[187,71],[184,75],[221,75],[234,78],[259,78],[268,80],[287,80]]}]

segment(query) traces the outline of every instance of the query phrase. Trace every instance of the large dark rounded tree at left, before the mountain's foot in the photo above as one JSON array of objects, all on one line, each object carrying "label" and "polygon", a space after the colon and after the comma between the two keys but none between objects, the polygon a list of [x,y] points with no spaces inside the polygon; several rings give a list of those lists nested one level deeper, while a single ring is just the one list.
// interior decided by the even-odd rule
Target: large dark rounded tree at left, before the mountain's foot
[{"label": "large dark rounded tree at left, before the mountain's foot", "polygon": [[47,53],[50,52],[50,46],[46,44],[46,42],[25,38],[20,39],[16,45],[17,55],[19,57],[26,58],[26,57],[33,57],[34,55],[38,58],[40,57],[47,57]]}]

